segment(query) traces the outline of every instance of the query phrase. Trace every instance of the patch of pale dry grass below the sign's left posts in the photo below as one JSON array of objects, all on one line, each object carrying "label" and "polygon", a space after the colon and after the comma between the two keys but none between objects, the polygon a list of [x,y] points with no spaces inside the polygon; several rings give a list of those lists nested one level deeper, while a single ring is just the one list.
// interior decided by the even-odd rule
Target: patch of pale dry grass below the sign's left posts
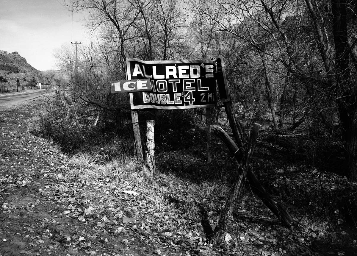
[{"label": "patch of pale dry grass below the sign's left posts", "polygon": [[[123,157],[105,164],[99,159],[87,154],[73,156],[68,164],[61,169],[59,179],[60,192],[73,190],[80,192],[87,200],[87,209],[91,214],[101,214],[110,209],[113,214],[125,210],[120,197],[137,193],[145,204],[150,204],[152,210],[163,211],[167,207],[164,198],[166,188],[160,187],[154,181],[154,176],[145,165],[139,164],[131,157]],[[120,206],[120,207],[117,207]]]}]

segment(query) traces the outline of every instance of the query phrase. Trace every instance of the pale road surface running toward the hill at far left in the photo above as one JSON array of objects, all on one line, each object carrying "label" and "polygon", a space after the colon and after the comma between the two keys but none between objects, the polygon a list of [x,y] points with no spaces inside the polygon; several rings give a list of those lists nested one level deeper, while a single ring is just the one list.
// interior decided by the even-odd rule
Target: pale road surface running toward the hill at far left
[{"label": "pale road surface running toward the hill at far left", "polygon": [[25,101],[35,100],[44,94],[53,92],[52,90],[26,90],[15,93],[0,94],[0,106],[17,105]]}]

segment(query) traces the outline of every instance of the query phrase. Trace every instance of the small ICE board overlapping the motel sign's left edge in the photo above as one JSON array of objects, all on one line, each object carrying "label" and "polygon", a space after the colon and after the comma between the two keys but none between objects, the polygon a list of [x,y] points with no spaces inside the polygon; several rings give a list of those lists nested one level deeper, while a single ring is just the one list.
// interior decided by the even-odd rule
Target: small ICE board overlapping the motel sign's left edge
[{"label": "small ICE board overlapping the motel sign's left edge", "polygon": [[112,93],[150,91],[150,79],[120,80],[111,82]]}]

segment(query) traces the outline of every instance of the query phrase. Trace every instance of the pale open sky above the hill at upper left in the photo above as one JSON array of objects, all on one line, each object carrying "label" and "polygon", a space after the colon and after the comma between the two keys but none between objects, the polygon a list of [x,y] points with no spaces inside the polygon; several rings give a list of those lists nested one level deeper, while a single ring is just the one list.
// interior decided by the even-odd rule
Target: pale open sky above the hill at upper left
[{"label": "pale open sky above the hill at upper left", "polygon": [[89,42],[83,16],[76,13],[72,16],[63,0],[0,0],[0,3],[0,50],[19,52],[40,71],[55,69],[54,49],[75,41]]}]

